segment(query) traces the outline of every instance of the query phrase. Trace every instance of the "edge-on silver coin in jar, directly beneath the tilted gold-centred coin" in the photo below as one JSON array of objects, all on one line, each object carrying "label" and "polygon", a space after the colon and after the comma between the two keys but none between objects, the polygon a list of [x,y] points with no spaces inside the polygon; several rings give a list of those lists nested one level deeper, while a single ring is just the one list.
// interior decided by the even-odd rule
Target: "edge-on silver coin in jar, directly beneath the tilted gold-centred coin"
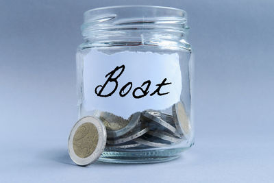
[{"label": "edge-on silver coin in jar, directly beneath the tilted gold-centred coin", "polygon": [[136,130],[129,132],[129,134],[125,134],[125,137],[109,140],[107,141],[107,143],[110,145],[125,143],[127,141],[132,141],[134,138],[138,138],[139,136],[142,136],[143,134],[149,132],[149,127],[142,127],[141,130],[139,129],[139,127],[136,127]]}]

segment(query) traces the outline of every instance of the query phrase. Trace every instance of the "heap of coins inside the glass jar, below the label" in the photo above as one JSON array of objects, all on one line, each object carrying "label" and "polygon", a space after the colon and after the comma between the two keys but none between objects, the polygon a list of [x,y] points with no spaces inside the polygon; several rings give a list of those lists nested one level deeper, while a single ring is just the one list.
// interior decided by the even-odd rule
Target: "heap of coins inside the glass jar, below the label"
[{"label": "heap of coins inside the glass jar, below the label", "polygon": [[[155,110],[145,110],[133,114],[128,120],[116,117],[111,114],[113,119],[106,121],[108,113],[101,112],[100,119],[107,124],[108,141],[106,149],[139,149],[150,147],[166,147],[182,142],[190,136],[190,123],[184,104],[178,102],[173,105],[173,114],[166,114]],[[115,121],[116,120],[116,121]],[[112,121],[124,126],[119,129],[123,133],[110,133]],[[114,128],[112,128],[113,130]],[[125,129],[123,131],[123,129]],[[128,130],[130,129],[130,130]],[[116,129],[114,129],[116,130]],[[109,136],[109,134],[112,134]]]}]

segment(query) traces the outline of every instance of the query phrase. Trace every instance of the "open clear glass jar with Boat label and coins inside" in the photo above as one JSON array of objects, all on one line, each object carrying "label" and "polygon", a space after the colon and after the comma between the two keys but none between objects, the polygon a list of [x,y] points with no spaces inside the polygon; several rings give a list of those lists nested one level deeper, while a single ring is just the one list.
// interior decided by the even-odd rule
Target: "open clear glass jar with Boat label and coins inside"
[{"label": "open clear glass jar with Boat label and coins inside", "polygon": [[193,145],[186,12],[127,5],[84,13],[77,49],[79,118],[108,138],[99,160],[173,160]]}]

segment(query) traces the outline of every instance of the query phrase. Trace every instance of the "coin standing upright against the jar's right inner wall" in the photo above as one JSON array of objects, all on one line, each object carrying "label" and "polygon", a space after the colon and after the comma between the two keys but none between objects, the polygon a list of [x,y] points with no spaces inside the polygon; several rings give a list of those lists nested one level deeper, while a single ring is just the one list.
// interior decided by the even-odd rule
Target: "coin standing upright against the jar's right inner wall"
[{"label": "coin standing upright against the jar's right inner wall", "polygon": [[184,104],[182,102],[175,103],[172,107],[173,119],[177,132],[185,138],[190,137],[191,126]]}]

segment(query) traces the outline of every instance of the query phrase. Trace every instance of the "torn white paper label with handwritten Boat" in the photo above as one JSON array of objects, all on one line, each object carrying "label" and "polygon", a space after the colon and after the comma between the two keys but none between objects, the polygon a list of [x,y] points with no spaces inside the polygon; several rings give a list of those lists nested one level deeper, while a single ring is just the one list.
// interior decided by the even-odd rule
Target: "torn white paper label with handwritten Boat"
[{"label": "torn white paper label with handwritten Boat", "polygon": [[125,119],[135,112],[171,107],[182,90],[177,53],[108,55],[92,49],[84,57],[83,80],[86,110],[108,111]]}]

